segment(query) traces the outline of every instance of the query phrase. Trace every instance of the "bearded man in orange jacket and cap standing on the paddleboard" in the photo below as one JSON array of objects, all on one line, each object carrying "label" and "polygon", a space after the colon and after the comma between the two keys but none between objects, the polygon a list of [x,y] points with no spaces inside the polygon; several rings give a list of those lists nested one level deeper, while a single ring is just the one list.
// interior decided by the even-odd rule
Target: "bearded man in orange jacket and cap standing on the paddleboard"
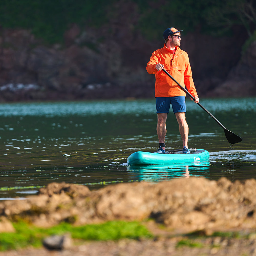
[{"label": "bearded man in orange jacket and cap standing on the paddleboard", "polygon": [[[170,104],[179,124],[179,132],[183,141],[183,153],[190,154],[188,149],[188,124],[186,122],[186,93],[166,75],[163,68],[183,87],[186,86],[191,95],[195,97],[195,103],[199,102],[194,82],[192,79],[191,67],[188,54],[179,48],[180,32],[176,28],[167,28],[163,37],[164,47],[152,53],[147,63],[147,72],[155,74],[155,98],[157,110],[157,135],[159,148],[155,153],[165,153],[166,119],[169,113]],[[192,99],[191,99],[192,100]]]}]

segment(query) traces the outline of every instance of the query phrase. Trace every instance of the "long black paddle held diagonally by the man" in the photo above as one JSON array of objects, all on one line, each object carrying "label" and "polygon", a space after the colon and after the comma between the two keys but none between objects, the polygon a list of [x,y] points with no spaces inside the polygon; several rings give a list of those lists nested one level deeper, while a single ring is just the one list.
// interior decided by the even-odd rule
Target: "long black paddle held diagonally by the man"
[{"label": "long black paddle held diagonally by the man", "polygon": [[[192,100],[195,100],[194,96],[192,96],[181,84],[179,84],[164,68],[163,68],[163,71],[170,77],[172,78],[172,80],[178,84],[178,86],[184,91],[186,92],[189,97],[192,99]],[[224,132],[225,132],[225,135],[226,135],[226,138],[228,140],[229,143],[231,144],[235,144],[235,143],[238,143],[240,141],[242,141],[243,139],[241,137],[239,137],[238,135],[230,132],[228,129],[226,129],[206,108],[204,108],[204,106],[202,104],[200,104],[200,102],[197,103],[208,115],[210,115],[223,129],[224,129]]]}]

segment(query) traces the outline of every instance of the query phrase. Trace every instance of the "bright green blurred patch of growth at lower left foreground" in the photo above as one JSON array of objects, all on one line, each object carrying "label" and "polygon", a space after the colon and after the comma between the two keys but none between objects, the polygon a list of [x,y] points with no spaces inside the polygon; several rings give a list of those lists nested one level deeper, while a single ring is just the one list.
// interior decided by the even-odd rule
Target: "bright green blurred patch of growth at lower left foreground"
[{"label": "bright green blurred patch of growth at lower left foreground", "polygon": [[150,238],[152,234],[139,222],[109,221],[103,224],[74,227],[69,223],[43,229],[25,222],[13,224],[15,233],[0,233],[0,251],[17,249],[32,245],[40,247],[42,239],[51,235],[69,232],[74,239],[83,240],[118,240],[122,238]]}]

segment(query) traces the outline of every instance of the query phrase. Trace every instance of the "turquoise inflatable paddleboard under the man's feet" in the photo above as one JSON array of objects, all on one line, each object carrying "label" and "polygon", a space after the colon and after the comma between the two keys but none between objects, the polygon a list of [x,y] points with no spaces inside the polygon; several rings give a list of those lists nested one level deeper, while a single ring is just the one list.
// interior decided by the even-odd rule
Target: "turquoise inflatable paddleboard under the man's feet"
[{"label": "turquoise inflatable paddleboard under the man's feet", "polygon": [[190,154],[183,154],[182,149],[166,151],[165,154],[137,151],[127,158],[128,165],[181,164],[204,162],[209,159],[209,152],[204,149],[189,149]]}]

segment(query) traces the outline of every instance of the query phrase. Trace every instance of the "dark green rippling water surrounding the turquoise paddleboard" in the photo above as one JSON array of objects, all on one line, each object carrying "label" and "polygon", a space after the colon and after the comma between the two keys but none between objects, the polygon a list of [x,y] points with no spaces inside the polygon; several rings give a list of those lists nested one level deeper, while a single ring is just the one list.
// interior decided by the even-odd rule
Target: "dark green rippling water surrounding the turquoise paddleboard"
[{"label": "dark green rippling water surrounding the turquoise paddleboard", "polygon": [[[127,166],[126,159],[135,151],[154,152],[158,147],[154,99],[0,104],[0,199],[36,194],[50,182],[98,189],[177,177],[256,178],[256,99],[200,101],[243,138],[234,145],[204,110],[189,99],[186,102],[188,145],[208,150],[209,161],[153,166]],[[181,147],[178,124],[170,113],[166,148]]]}]

